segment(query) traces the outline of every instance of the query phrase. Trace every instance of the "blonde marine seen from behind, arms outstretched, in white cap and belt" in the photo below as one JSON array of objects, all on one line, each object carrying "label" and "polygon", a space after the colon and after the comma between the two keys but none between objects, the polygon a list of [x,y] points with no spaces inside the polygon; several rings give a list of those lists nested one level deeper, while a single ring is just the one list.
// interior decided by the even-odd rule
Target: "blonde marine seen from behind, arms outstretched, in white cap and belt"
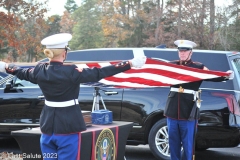
[{"label": "blonde marine seen from behind, arms outstretched, in white cap and belt", "polygon": [[[102,78],[129,70],[131,66],[141,67],[146,57],[134,58],[103,68],[78,68],[63,64],[67,56],[71,34],[49,36],[41,41],[46,45],[44,54],[49,63],[39,63],[34,68],[7,66],[7,73],[38,84],[45,97],[40,115],[41,151],[43,158],[71,160],[80,159],[80,133],[86,125],[78,104],[80,83],[97,82]],[[2,63],[1,63],[2,64]],[[82,146],[84,147],[84,146]]]}]

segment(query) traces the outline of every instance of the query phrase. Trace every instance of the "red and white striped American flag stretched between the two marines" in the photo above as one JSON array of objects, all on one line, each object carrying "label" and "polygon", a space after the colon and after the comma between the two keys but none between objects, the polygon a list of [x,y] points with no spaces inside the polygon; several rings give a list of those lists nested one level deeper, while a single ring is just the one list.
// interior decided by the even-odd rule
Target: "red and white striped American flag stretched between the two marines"
[{"label": "red and white striped American flag stretched between the two marines", "polygon": [[[114,62],[86,63],[84,65],[80,64],[78,67],[99,68],[111,64],[114,64]],[[142,68],[132,68],[128,71],[104,78],[99,82],[84,83],[84,85],[95,87],[146,88],[171,86],[224,76],[229,76],[229,73],[191,68],[147,58],[146,64]]]}]

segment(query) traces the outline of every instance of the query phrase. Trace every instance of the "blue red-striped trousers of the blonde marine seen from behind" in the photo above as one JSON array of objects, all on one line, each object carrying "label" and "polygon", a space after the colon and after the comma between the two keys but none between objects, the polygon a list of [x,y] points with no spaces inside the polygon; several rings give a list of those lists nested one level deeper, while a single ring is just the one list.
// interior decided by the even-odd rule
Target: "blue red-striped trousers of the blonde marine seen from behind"
[{"label": "blue red-striped trousers of the blonde marine seen from behind", "polygon": [[44,160],[79,160],[81,133],[66,135],[42,134],[40,146]]}]

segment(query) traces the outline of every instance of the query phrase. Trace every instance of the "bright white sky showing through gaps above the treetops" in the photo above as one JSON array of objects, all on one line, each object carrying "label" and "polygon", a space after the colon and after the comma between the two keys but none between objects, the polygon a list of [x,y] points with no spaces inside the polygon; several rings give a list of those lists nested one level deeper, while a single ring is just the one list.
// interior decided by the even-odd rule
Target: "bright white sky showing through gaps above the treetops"
[{"label": "bright white sky showing through gaps above the treetops", "polygon": [[[36,1],[44,1],[44,0],[36,0]],[[48,2],[48,8],[49,13],[48,15],[63,15],[63,11],[65,10],[64,5],[66,4],[67,0],[49,0]],[[81,0],[75,0],[76,4],[80,6]],[[216,6],[224,6],[227,5],[228,3],[231,3],[231,0],[215,0],[215,5]]]}]

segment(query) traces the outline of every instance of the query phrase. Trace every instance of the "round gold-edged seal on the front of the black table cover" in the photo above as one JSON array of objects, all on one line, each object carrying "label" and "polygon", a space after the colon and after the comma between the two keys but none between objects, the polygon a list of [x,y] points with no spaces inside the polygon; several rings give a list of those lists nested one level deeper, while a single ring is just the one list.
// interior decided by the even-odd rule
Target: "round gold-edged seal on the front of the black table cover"
[{"label": "round gold-edged seal on the front of the black table cover", "polygon": [[115,138],[110,129],[104,129],[99,134],[95,147],[95,160],[115,160]]}]

